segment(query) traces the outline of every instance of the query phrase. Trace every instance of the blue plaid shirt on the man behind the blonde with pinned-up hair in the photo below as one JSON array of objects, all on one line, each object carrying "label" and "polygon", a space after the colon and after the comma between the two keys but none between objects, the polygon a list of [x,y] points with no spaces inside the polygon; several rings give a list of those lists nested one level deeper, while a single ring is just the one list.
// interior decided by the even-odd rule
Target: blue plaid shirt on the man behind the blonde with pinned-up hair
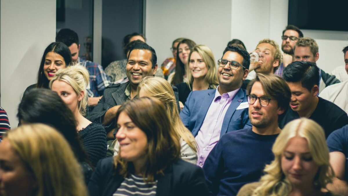
[{"label": "blue plaid shirt on the man behind the blonde with pinned-up hair", "polygon": [[110,78],[98,63],[86,61],[79,57],[78,62],[86,67],[89,72],[89,88],[87,87],[88,97],[100,97],[104,94],[106,87],[110,85]]}]

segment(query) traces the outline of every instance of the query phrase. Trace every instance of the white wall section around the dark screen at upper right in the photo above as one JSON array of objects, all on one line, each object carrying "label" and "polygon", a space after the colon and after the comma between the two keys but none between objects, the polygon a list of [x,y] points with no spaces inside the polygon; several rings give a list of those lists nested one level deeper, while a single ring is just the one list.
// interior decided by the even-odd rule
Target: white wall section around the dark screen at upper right
[{"label": "white wall section around the dark screen at upper right", "polygon": [[[231,0],[231,39],[244,42],[249,52],[259,40],[270,38],[281,47],[282,31],[287,25],[288,0]],[[342,22],[342,25],[345,23]],[[348,32],[302,30],[305,37],[316,40],[319,46],[317,64],[327,73],[343,66],[343,47],[348,45]]]}]

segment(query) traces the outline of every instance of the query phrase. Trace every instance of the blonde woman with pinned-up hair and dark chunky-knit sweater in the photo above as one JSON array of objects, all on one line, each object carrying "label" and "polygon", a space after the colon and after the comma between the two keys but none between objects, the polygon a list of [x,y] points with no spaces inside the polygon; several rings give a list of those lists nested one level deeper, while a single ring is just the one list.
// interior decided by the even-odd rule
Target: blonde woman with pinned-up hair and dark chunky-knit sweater
[{"label": "blonde woman with pinned-up hair and dark chunky-knit sweater", "polygon": [[88,70],[81,65],[74,65],[58,70],[50,81],[49,88],[57,92],[73,112],[77,121],[76,130],[89,159],[95,166],[98,160],[105,158],[106,155],[106,131],[102,125],[92,123],[84,117],[88,103],[86,93],[88,81]]}]

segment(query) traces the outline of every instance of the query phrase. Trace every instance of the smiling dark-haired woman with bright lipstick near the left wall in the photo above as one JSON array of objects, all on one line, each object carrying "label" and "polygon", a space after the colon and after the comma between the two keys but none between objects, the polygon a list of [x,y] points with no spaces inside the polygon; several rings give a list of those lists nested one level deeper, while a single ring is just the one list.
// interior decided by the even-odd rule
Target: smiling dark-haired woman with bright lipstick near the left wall
[{"label": "smiling dark-haired woman with bright lipstick near the left wall", "polygon": [[33,88],[48,89],[49,81],[53,78],[56,71],[69,66],[71,61],[71,53],[68,46],[61,42],[52,42],[46,47],[42,55],[37,83],[28,86],[23,96]]}]

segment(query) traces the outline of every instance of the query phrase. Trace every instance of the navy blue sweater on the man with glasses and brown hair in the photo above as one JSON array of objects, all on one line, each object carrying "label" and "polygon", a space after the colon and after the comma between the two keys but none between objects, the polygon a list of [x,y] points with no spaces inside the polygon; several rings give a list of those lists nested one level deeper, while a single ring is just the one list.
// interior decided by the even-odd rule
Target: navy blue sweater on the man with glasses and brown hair
[{"label": "navy blue sweater on the man with glasses and brown hair", "polygon": [[203,171],[210,195],[237,195],[246,183],[260,179],[276,135],[259,135],[252,128],[224,134],[209,153]]}]

